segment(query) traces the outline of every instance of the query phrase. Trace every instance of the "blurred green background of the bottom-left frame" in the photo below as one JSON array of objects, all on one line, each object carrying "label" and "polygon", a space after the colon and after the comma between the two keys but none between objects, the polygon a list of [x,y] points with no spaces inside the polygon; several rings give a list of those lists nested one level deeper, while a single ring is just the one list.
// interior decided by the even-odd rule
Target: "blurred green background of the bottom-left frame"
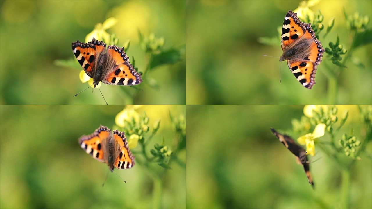
[{"label": "blurred green background of the bottom-left frame", "polygon": [[[0,208],[185,208],[186,171],[177,163],[170,165],[172,170],[164,173],[159,187],[159,181],[139,163],[143,156],[134,154],[133,168],[115,169],[127,183],[109,173],[102,187],[108,166],[86,154],[77,140],[93,133],[100,124],[112,128],[123,108],[1,105]],[[161,120],[148,145],[151,148],[161,144],[163,136],[166,144],[173,144],[169,111],[185,116],[186,107],[145,105],[137,111],[147,113],[150,130],[157,119]],[[140,152],[140,145],[131,151]],[[177,156],[185,162],[186,149]]]}]

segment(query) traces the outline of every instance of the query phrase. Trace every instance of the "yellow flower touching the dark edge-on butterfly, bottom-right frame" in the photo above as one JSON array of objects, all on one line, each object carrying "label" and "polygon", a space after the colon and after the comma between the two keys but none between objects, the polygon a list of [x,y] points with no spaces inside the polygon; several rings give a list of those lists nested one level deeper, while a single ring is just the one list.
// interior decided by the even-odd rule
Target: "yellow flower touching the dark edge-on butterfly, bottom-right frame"
[{"label": "yellow flower touching the dark edge-on butterfly, bottom-right frame", "polygon": [[312,133],[306,134],[304,136],[300,136],[297,141],[302,145],[306,145],[306,154],[314,156],[315,155],[315,142],[314,139],[320,138],[324,136],[325,132],[325,124],[319,123],[315,126],[315,129]]}]

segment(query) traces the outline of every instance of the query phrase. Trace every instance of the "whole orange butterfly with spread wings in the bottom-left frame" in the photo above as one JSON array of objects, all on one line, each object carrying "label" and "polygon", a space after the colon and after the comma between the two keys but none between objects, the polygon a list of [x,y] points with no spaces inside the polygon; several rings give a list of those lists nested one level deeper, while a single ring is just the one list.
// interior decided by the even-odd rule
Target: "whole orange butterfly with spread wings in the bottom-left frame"
[{"label": "whole orange butterfly with spread wings in the bottom-left frame", "polygon": [[108,164],[111,172],[114,168],[127,169],[134,166],[134,156],[128,147],[124,132],[118,130],[112,132],[101,125],[93,134],[83,135],[78,141],[86,153]]}]

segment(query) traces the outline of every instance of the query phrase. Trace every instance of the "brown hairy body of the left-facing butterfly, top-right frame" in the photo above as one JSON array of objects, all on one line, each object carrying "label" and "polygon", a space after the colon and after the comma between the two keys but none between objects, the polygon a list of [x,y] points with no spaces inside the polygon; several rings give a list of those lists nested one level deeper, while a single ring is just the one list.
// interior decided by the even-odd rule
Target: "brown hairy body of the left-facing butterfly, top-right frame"
[{"label": "brown hairy body of the left-facing butterfly, top-right frame", "polygon": [[279,61],[291,60],[291,61],[302,61],[310,56],[311,40],[300,38],[294,42],[291,46],[283,50],[283,54]]}]

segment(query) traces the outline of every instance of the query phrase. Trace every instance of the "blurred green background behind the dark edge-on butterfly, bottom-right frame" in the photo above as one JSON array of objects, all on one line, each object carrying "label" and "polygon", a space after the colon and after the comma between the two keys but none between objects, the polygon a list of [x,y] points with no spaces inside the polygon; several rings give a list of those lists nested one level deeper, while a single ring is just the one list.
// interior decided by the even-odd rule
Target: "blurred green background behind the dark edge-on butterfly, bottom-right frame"
[{"label": "blurred green background behind the dark edge-on butterfly, bottom-right frame", "polygon": [[[372,208],[372,143],[350,170],[350,190],[343,193],[341,169],[315,144],[310,170],[312,190],[294,155],[272,134],[286,132],[291,120],[303,115],[302,105],[188,105],[187,208]],[[336,134],[354,129],[365,137],[356,105],[342,105],[349,119]],[[340,119],[339,119],[340,120]],[[335,127],[336,128],[336,127]],[[312,131],[312,130],[311,130]],[[288,133],[288,132],[286,132]],[[294,140],[298,135],[291,135]],[[329,141],[329,134],[319,138]],[[337,155],[346,162],[350,158]]]}]

